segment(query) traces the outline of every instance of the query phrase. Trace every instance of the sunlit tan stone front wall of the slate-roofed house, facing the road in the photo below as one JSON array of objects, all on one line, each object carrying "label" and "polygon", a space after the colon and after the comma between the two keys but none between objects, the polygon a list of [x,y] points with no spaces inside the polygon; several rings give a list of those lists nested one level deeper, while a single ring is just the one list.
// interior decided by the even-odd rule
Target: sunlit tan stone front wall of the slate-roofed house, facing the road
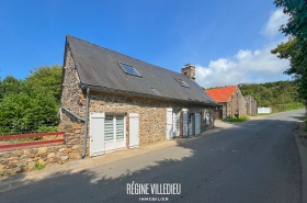
[{"label": "sunlit tan stone front wall of the slate-roofed house, facing the road", "polygon": [[[84,99],[83,99],[84,100]],[[81,102],[82,103],[82,102]],[[129,142],[129,113],[139,114],[139,145],[166,139],[167,109],[172,108],[173,112],[187,109],[189,113],[201,113],[201,132],[214,126],[213,109],[202,105],[191,105],[184,102],[172,102],[163,99],[128,95],[115,92],[91,91],[89,112],[116,114],[117,109],[124,109],[126,115],[126,145]],[[113,113],[111,111],[114,111]],[[211,113],[211,124],[207,126],[205,114]],[[90,122],[89,122],[90,123]],[[182,117],[181,117],[182,128]],[[181,131],[182,135],[182,131]]]}]

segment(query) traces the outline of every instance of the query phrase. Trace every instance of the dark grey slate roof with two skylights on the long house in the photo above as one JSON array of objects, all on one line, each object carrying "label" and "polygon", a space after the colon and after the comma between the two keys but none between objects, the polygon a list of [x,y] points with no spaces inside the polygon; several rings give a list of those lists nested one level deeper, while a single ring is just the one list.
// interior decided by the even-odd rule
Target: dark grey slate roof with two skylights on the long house
[{"label": "dark grey slate roof with two skylights on the long house", "polygon": [[[187,76],[150,65],[70,35],[66,36],[66,41],[70,47],[82,84],[129,93],[216,104]],[[118,63],[133,66],[141,75],[141,78],[125,74]],[[174,79],[175,77],[183,79],[190,88],[182,87]],[[151,87],[158,92],[154,91]]]}]

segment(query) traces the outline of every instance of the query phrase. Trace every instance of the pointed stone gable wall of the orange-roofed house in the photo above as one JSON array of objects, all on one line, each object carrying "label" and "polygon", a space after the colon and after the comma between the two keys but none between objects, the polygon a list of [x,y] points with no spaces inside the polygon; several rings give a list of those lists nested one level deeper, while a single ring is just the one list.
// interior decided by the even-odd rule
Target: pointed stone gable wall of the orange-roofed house
[{"label": "pointed stone gable wall of the orange-roofed house", "polygon": [[235,117],[235,115],[238,114],[238,110],[240,111],[240,116],[247,116],[246,100],[242,97],[240,89],[237,87],[227,102],[227,116]]}]

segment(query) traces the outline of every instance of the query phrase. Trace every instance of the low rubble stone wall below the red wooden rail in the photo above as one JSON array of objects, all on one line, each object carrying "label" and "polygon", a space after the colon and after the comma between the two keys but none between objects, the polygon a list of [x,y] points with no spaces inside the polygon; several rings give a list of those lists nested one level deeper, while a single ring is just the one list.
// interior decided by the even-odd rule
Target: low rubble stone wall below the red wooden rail
[{"label": "low rubble stone wall below the red wooden rail", "polygon": [[0,151],[0,178],[23,171],[32,171],[38,162],[46,167],[80,159],[83,153],[82,124],[66,125],[65,145],[39,146],[16,150]]}]

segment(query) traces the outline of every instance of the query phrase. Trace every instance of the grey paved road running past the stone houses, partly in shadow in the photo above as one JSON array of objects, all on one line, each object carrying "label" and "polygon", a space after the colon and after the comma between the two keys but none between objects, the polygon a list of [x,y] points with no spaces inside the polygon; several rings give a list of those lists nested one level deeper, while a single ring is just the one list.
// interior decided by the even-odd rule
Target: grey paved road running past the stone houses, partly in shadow
[{"label": "grey paved road running past the stone houses, partly in shadow", "polygon": [[[0,202],[139,202],[139,198],[168,198],[168,202],[302,202],[302,169],[293,127],[303,114],[304,110],[297,110],[270,115],[179,146],[73,174],[59,173],[0,193]],[[126,184],[133,181],[181,183],[181,194],[127,195]]]}]

